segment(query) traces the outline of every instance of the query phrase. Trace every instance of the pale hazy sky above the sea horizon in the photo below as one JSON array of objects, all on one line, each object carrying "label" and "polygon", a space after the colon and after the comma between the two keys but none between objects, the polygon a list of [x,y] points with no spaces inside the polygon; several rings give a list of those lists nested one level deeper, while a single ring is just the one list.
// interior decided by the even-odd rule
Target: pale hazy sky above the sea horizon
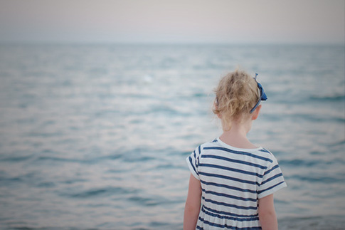
[{"label": "pale hazy sky above the sea horizon", "polygon": [[0,0],[0,41],[344,43],[345,0]]}]

